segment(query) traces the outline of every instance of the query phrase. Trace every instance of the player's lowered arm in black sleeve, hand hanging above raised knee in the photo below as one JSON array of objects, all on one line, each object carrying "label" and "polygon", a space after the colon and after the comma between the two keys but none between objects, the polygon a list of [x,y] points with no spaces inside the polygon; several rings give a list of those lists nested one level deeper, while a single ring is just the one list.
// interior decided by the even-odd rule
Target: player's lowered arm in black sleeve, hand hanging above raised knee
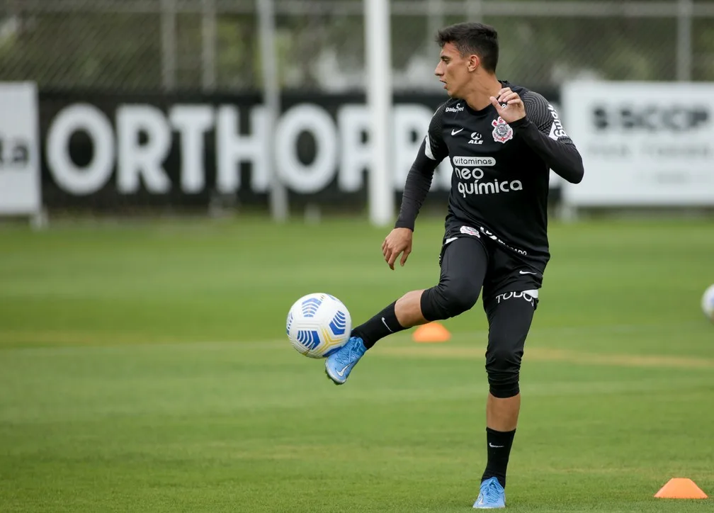
[{"label": "player's lowered arm in black sleeve, hand hanging above raised knee", "polygon": [[416,216],[431,188],[431,180],[436,166],[448,155],[442,134],[444,109],[446,109],[446,104],[439,107],[431,118],[426,137],[407,174],[399,216],[394,224],[394,229],[382,243],[382,253],[390,269],[394,269],[394,262],[400,254],[402,255],[400,264],[403,266],[406,263],[406,259],[411,253]]}]

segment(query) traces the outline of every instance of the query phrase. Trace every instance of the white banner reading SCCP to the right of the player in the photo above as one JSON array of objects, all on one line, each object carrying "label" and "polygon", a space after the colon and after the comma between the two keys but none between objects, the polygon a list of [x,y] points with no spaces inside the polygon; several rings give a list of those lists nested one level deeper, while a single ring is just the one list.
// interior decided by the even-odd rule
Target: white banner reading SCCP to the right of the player
[{"label": "white banner reading SCCP to the right of the player", "polygon": [[714,205],[714,84],[564,84],[564,126],[585,177],[571,206]]}]

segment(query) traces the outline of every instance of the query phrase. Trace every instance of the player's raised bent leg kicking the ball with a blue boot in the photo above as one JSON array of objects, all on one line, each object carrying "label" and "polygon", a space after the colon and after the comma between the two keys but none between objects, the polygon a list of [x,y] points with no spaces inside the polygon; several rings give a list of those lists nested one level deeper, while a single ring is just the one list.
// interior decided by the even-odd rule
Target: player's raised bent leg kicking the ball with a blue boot
[{"label": "player's raised bent leg kicking the ball with a blue boot", "polygon": [[419,324],[455,317],[471,309],[481,293],[488,254],[476,237],[460,237],[443,248],[436,286],[407,292],[352,330],[351,338],[325,362],[325,372],[343,384],[365,352],[378,340]]}]

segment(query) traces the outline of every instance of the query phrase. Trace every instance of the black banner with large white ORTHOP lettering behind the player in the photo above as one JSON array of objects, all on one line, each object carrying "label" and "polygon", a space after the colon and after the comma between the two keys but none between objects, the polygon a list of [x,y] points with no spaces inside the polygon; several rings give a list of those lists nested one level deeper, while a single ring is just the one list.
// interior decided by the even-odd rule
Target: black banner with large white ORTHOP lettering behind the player
[{"label": "black banner with large white ORTHOP lettering behind the player", "polygon": [[[436,108],[436,94],[398,94],[391,145],[395,194]],[[269,131],[261,97],[40,95],[45,202],[53,206],[197,206],[213,195],[265,204],[269,159],[293,201],[366,201],[368,109],[360,94],[285,94]],[[435,195],[451,186],[448,159]],[[558,186],[559,181],[553,181]]]}]

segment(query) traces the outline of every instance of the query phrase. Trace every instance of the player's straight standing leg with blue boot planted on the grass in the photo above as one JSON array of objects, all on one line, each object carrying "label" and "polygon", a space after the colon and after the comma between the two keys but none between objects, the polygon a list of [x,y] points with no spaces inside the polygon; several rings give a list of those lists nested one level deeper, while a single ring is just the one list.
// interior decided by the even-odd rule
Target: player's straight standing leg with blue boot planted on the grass
[{"label": "player's straight standing leg with blue boot planted on the grass", "polygon": [[506,469],[521,410],[519,375],[523,347],[538,306],[537,292],[507,292],[484,297],[488,317],[488,399],[486,400],[486,470],[475,508],[506,503]]}]

